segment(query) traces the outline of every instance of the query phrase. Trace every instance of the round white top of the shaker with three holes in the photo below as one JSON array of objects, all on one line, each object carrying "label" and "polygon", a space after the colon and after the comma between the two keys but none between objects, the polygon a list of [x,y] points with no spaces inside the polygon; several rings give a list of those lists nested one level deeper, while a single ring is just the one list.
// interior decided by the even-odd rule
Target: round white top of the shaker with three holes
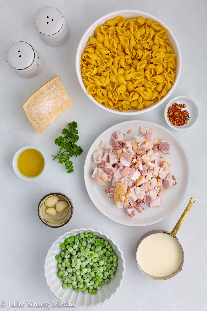
[{"label": "round white top of the shaker with three holes", "polygon": [[43,35],[54,35],[63,26],[63,16],[55,7],[43,7],[34,17],[34,25]]}]

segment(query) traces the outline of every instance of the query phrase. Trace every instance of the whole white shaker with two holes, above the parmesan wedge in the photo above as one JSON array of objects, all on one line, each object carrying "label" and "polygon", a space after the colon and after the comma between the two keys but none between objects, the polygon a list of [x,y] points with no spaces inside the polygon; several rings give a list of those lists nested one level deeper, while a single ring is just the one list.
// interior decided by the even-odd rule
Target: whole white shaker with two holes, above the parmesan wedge
[{"label": "whole white shaker with two holes, above the parmesan wedge", "polygon": [[24,41],[11,44],[7,49],[7,62],[23,78],[33,78],[43,69],[40,53]]}]

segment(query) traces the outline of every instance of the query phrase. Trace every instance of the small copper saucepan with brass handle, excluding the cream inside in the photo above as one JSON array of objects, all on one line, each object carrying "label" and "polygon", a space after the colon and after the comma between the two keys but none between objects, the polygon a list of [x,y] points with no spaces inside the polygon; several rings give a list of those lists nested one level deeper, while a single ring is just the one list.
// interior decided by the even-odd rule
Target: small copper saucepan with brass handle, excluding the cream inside
[{"label": "small copper saucepan with brass handle, excluding the cream inside", "polygon": [[[191,202],[191,200],[193,200],[193,199],[194,199],[194,201]],[[153,231],[150,231],[150,232],[147,232],[146,234],[144,234],[144,235],[141,237],[141,239],[138,241],[137,250],[136,250],[137,265],[138,265],[139,269],[142,271],[142,273],[144,273],[146,276],[148,276],[148,277],[150,277],[151,279],[154,279],[154,280],[167,280],[167,279],[169,279],[169,278],[175,276],[179,271],[182,270],[182,265],[183,265],[183,262],[184,262],[184,252],[183,252],[183,249],[182,249],[181,244],[178,242],[178,239],[177,239],[177,237],[176,237],[175,235],[177,234],[178,230],[180,229],[180,227],[181,227],[181,225],[182,225],[184,219],[186,218],[188,212],[190,211],[191,207],[192,207],[195,203],[196,203],[196,198],[195,198],[195,197],[191,197],[190,200],[189,200],[189,202],[188,202],[188,205],[187,205],[185,211],[182,213],[180,219],[178,220],[177,224],[174,226],[173,230],[172,230],[170,233],[168,233],[168,232],[166,232],[166,231],[164,231],[164,230],[153,230]],[[141,251],[141,248],[140,248],[140,249],[139,249],[139,252],[138,252],[138,248],[139,248],[141,242],[142,242],[144,239],[146,239],[148,236],[151,236],[152,234],[157,234],[157,233],[159,233],[159,234],[168,234],[168,235],[172,236],[173,239],[176,241],[176,243],[178,243],[177,246],[176,246],[176,245],[175,245],[175,246],[178,247],[178,248],[180,247],[180,250],[179,250],[179,251],[181,252],[180,264],[178,264],[178,266],[177,266],[177,268],[175,269],[175,271],[171,272],[171,273],[168,274],[168,275],[164,275],[164,276],[152,276],[152,275],[150,275],[149,273],[147,273],[147,270],[146,270],[146,269],[143,270],[143,268],[141,267],[141,265],[140,265],[139,262],[138,262],[138,260],[139,260],[138,257],[140,256],[139,253],[140,253],[140,251]],[[158,237],[158,236],[157,236],[157,237]],[[156,238],[156,237],[154,236],[153,238]],[[167,237],[164,237],[164,236],[163,236],[162,238],[167,238]],[[174,244],[176,244],[174,240],[173,240],[172,242],[173,242]],[[145,240],[145,242],[143,242],[143,243],[146,243],[146,240]],[[178,245],[179,245],[179,246],[178,246]],[[142,247],[143,247],[143,244],[142,244]],[[164,247],[164,246],[163,246],[163,247]],[[148,249],[149,249],[149,248],[148,248]],[[154,256],[154,248],[152,248],[150,251],[151,251],[151,256],[152,256],[152,258],[153,258],[153,256]],[[173,257],[173,255],[172,255],[172,257]],[[141,262],[141,261],[140,261],[140,262]],[[155,262],[153,262],[153,265],[155,265],[155,269],[156,269],[156,257],[155,257]]]}]

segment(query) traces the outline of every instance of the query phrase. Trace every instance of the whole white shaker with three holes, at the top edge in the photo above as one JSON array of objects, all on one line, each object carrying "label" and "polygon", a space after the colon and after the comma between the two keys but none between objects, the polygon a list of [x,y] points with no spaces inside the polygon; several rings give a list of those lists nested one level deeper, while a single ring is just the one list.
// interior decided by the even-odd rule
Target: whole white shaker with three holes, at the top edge
[{"label": "whole white shaker with three holes, at the top edge", "polygon": [[43,7],[34,17],[40,38],[50,46],[59,46],[69,37],[69,26],[55,7]]}]

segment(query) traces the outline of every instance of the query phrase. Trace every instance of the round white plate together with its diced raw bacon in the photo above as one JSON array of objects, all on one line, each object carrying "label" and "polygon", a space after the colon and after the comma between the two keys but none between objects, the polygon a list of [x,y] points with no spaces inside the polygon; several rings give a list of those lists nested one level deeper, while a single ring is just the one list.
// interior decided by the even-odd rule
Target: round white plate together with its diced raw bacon
[{"label": "round white plate together with its diced raw bacon", "polygon": [[90,147],[84,179],[93,204],[130,226],[155,224],[184,199],[190,164],[181,142],[148,121],[126,121],[104,131]]}]

